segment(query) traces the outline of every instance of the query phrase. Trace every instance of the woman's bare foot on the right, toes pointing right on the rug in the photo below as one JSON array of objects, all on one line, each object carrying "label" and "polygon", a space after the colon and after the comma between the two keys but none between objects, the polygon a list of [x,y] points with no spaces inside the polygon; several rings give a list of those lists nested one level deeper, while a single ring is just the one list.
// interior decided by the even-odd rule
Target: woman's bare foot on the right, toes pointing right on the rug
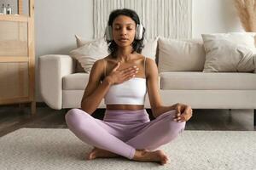
[{"label": "woman's bare foot on the right, toes pointing right on the rug", "polygon": [[169,159],[168,156],[162,150],[136,150],[135,156],[133,157],[135,161],[156,161],[161,165],[166,164]]}]

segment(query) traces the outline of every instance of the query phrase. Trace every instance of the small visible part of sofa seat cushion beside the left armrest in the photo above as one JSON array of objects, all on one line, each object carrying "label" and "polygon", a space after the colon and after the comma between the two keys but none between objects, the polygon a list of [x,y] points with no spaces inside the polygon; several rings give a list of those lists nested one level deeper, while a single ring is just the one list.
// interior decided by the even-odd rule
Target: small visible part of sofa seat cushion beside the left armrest
[{"label": "small visible part of sofa seat cushion beside the left armrest", "polygon": [[88,81],[88,73],[74,73],[63,77],[63,90],[84,90]]}]

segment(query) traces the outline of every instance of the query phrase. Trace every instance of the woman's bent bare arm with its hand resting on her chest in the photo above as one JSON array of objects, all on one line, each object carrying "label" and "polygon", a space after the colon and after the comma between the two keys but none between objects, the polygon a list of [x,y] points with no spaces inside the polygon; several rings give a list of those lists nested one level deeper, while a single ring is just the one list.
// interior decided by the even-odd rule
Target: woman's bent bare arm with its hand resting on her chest
[{"label": "woman's bent bare arm with its hand resting on her chest", "polygon": [[119,69],[119,63],[115,65],[108,77],[105,77],[101,83],[105,65],[103,59],[97,60],[90,71],[89,82],[84,90],[81,101],[81,109],[89,114],[96,111],[96,108],[102,102],[108,89],[113,84],[118,84],[129,80],[137,73],[137,67],[131,66],[124,70]]}]

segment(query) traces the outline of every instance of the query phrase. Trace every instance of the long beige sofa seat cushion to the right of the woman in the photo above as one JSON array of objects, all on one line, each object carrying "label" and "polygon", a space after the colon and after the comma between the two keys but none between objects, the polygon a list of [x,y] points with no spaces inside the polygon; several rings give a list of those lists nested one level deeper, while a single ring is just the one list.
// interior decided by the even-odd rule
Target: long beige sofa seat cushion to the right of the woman
[{"label": "long beige sofa seat cushion to the right of the woman", "polygon": [[201,71],[161,72],[160,89],[254,90],[256,89],[256,74]]}]

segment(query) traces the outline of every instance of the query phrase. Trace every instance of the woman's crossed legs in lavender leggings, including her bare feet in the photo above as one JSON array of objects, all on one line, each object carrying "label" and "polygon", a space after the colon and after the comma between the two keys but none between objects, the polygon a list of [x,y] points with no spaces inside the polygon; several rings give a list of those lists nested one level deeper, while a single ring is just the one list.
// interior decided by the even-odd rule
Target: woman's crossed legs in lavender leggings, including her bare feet
[{"label": "woman's crossed legs in lavender leggings, including her bare feet", "polygon": [[[172,116],[175,111],[168,111],[158,116],[152,122],[146,122],[135,137],[126,142],[113,133],[113,128],[108,123],[95,119],[84,111],[73,109],[67,112],[66,122],[69,129],[82,141],[93,145],[108,156],[125,156],[128,159],[137,159],[138,150],[141,156],[147,156],[148,161],[167,161],[161,150],[155,150],[160,145],[166,144],[177,137],[185,127],[185,122],[174,122]],[[145,150],[155,150],[147,152]],[[93,152],[92,151],[92,152]],[[157,157],[158,160],[155,160]],[[140,160],[137,160],[140,161]],[[144,161],[147,161],[147,159]]]}]

